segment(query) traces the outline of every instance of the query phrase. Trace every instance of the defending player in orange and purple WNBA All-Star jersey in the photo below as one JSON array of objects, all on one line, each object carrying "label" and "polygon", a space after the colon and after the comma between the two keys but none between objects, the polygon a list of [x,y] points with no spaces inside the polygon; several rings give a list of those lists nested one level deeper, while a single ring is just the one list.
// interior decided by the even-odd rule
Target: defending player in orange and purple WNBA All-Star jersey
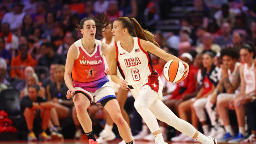
[{"label": "defending player in orange and purple WNBA All-Star jersey", "polygon": [[108,61],[109,47],[95,39],[108,24],[105,13],[99,13],[96,18],[86,17],[80,21],[77,30],[81,31],[83,37],[70,46],[66,59],[64,78],[69,88],[66,97],[73,98],[79,122],[89,139],[89,144],[97,144],[92,132],[92,122],[86,110],[93,99],[97,105],[108,111],[124,141],[133,144],[129,126],[122,117],[114,90],[105,74],[109,70],[105,69],[103,55]]}]

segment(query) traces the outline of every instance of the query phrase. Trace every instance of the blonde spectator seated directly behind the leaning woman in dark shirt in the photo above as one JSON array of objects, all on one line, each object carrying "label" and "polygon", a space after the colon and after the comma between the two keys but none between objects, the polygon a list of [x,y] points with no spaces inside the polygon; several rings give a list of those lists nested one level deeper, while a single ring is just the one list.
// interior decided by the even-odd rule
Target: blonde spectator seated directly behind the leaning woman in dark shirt
[{"label": "blonde spectator seated directly behind the leaning woman in dark shirt", "polygon": [[[21,99],[28,95],[28,87],[31,85],[39,85],[39,79],[36,73],[26,74],[26,87],[20,93]],[[39,87],[38,96],[41,96],[44,99],[46,98],[46,91],[44,87]]]}]

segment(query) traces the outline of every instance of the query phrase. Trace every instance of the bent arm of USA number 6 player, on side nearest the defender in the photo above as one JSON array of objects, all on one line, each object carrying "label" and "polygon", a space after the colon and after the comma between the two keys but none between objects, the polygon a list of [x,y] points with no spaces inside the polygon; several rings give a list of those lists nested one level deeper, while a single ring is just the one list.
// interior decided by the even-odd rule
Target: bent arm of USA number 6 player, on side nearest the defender
[{"label": "bent arm of USA number 6 player, on side nearest the defender", "polygon": [[110,68],[110,77],[111,80],[120,85],[124,90],[128,90],[127,81],[122,80],[117,76],[117,60],[116,60],[116,48],[115,46],[111,47],[108,50],[108,66]]}]

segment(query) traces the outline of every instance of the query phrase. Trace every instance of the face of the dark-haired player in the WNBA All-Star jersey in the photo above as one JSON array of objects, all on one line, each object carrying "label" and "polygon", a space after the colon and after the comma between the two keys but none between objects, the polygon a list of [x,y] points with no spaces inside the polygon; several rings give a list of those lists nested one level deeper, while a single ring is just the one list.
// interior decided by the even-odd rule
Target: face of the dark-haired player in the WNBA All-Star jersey
[{"label": "face of the dark-haired player in the WNBA All-Star jersey", "polygon": [[81,29],[81,33],[83,34],[84,37],[95,38],[96,25],[94,20],[85,21],[83,29]]}]

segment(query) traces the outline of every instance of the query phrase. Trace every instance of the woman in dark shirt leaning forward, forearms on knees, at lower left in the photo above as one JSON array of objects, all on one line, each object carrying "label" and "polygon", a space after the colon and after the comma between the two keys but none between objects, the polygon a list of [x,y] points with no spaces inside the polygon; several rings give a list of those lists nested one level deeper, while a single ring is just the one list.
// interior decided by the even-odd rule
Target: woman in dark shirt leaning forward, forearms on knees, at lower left
[{"label": "woman in dark shirt leaning forward, forearms on knees, at lower left", "polygon": [[[28,95],[21,100],[21,113],[24,115],[28,128],[28,140],[37,140],[33,132],[34,120],[42,119],[42,132],[39,134],[39,138],[42,140],[49,140],[46,130],[48,122],[50,120],[50,110],[53,107],[53,103],[44,100],[38,96],[39,86],[32,85],[28,87]],[[40,111],[39,111],[40,110]],[[35,114],[36,113],[36,114]],[[36,116],[35,116],[36,115]]]}]

